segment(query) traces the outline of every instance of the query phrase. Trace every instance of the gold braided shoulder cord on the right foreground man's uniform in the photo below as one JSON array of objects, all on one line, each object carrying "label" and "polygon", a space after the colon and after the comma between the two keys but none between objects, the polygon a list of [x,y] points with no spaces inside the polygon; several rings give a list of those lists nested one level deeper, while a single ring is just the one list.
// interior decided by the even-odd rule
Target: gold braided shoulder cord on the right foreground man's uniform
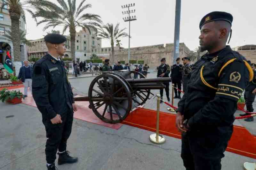
[{"label": "gold braided shoulder cord on the right foreground man's uniform", "polygon": [[[228,64],[232,63],[232,62],[235,61],[235,60],[236,60],[236,58],[233,58],[233,59],[229,60],[227,63],[225,63],[225,64],[221,67],[218,76],[220,77],[220,74],[221,74],[222,70],[223,70],[225,67],[227,67]],[[250,79],[249,79],[249,81],[252,81],[252,79],[253,79],[253,70],[252,70],[250,64],[247,63],[245,60],[244,60],[244,63],[245,63],[245,66],[247,67],[247,69],[249,70],[249,73],[250,73]],[[204,66],[201,68],[201,72],[200,72],[200,77],[201,77],[201,80],[202,80],[202,82],[204,83],[204,85],[206,85],[206,86],[208,86],[208,87],[210,87],[210,88],[212,88],[212,89],[217,90],[217,88],[211,86],[210,84],[208,84],[208,83],[204,80],[204,77],[203,77],[203,70],[204,70]]]}]

